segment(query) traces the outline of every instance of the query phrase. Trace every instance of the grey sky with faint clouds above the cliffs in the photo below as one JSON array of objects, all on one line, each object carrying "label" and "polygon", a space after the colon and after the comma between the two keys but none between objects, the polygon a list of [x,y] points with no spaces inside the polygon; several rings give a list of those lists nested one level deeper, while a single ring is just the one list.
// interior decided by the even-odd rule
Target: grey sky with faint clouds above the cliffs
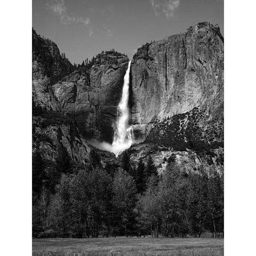
[{"label": "grey sky with faint clouds above the cliffs", "polygon": [[224,32],[223,0],[33,0],[32,15],[36,33],[77,64],[113,48],[132,59],[142,44],[198,22]]}]

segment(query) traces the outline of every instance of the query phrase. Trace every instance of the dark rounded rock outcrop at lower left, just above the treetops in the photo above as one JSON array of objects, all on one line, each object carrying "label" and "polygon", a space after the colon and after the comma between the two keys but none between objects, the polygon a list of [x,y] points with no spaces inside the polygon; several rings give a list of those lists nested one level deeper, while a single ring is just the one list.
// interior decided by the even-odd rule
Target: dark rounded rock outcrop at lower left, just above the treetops
[{"label": "dark rounded rock outcrop at lower left, just above the treetops", "polygon": [[51,163],[58,157],[62,146],[67,149],[71,161],[83,165],[88,162],[91,148],[71,118],[53,111],[35,114],[33,150],[39,150],[44,161]]}]

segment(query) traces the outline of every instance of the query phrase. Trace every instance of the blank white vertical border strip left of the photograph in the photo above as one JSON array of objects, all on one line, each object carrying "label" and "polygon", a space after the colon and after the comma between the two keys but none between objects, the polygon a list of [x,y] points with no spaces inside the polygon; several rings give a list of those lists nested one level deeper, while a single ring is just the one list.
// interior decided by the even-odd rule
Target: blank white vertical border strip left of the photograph
[{"label": "blank white vertical border strip left of the photograph", "polygon": [[31,255],[31,1],[1,3],[2,255]]}]

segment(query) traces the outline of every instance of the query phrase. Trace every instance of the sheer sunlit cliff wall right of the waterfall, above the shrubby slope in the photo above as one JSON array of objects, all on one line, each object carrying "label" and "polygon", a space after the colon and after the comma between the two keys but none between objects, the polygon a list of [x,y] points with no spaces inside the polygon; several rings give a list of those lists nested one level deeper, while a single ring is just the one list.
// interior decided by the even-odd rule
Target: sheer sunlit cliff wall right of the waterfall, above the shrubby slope
[{"label": "sheer sunlit cliff wall right of the waterfall, above the shrubby slope", "polygon": [[208,22],[140,47],[131,66],[137,138],[145,139],[153,122],[195,107],[205,114],[201,126],[222,123],[223,58],[219,27]]}]

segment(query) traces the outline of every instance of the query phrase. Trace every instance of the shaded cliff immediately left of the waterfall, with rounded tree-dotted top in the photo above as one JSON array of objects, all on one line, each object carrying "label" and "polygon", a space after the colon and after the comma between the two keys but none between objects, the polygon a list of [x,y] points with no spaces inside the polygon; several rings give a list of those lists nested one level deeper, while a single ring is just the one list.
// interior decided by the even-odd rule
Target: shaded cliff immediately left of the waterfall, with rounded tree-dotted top
[{"label": "shaded cliff immediately left of the waterfall, with rounded tree-dotted top", "polygon": [[53,85],[61,107],[84,137],[112,142],[128,63],[129,59],[117,52],[98,54],[93,62]]}]

